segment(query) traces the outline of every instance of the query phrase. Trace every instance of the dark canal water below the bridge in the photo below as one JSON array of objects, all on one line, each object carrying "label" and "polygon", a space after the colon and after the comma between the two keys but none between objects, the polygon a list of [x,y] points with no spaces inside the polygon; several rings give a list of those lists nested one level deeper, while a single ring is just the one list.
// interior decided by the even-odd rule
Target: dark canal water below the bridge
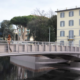
[{"label": "dark canal water below the bridge", "polygon": [[25,72],[24,79],[21,79],[21,76],[18,75],[17,66],[10,63],[10,58],[0,58],[0,80],[80,80],[80,72],[77,73],[76,71],[63,69],[50,70],[41,73],[31,72],[26,69]]}]

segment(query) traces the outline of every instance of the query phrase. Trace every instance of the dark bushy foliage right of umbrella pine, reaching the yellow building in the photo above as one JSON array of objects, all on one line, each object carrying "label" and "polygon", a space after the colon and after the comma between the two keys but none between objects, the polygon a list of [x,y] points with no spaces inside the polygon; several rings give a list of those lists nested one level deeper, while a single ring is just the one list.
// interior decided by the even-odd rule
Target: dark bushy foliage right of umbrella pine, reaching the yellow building
[{"label": "dark bushy foliage right of umbrella pine, reaching the yellow building", "polygon": [[30,29],[30,36],[33,36],[35,41],[49,41],[49,27],[50,41],[55,41],[57,30],[56,16],[52,16],[51,18],[38,16],[38,18],[28,23],[28,28]]}]

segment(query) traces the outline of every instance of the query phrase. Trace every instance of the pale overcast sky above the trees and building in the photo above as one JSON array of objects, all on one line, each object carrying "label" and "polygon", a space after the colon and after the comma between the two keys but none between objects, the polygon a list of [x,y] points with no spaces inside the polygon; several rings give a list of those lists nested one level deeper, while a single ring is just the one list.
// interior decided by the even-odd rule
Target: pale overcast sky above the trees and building
[{"label": "pale overcast sky above the trees and building", "polygon": [[14,16],[30,15],[36,8],[48,12],[76,6],[80,7],[80,0],[0,0],[0,22]]}]

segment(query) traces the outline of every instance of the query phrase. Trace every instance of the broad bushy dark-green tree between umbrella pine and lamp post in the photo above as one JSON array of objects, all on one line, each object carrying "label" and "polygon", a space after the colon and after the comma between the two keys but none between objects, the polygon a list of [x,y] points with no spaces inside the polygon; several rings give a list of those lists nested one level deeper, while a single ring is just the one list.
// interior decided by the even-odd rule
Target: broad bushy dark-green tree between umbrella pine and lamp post
[{"label": "broad bushy dark-green tree between umbrella pine and lamp post", "polygon": [[44,16],[38,16],[37,19],[28,23],[30,29],[30,36],[34,37],[36,41],[48,40],[48,18]]}]

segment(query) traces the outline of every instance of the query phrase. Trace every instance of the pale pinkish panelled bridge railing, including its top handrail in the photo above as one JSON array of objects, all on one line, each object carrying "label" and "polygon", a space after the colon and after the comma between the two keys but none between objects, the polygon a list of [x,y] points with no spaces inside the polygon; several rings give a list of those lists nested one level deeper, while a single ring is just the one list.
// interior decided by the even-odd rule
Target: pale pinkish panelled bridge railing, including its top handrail
[{"label": "pale pinkish panelled bridge railing, including its top handrail", "polygon": [[70,51],[80,51],[78,44],[69,45],[65,43],[61,45],[58,42],[41,42],[41,41],[11,41],[11,44],[7,41],[0,43],[0,53],[10,53],[10,48],[14,53],[29,53],[29,52],[70,52]]}]

